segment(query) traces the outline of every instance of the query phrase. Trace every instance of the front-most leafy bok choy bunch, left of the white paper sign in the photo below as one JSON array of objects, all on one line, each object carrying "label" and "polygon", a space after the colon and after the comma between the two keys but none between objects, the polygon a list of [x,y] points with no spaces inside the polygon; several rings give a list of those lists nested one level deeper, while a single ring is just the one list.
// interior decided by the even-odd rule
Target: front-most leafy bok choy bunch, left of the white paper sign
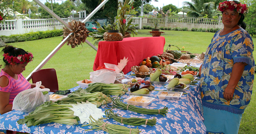
[{"label": "front-most leafy bok choy bunch, left of the white paper sign", "polygon": [[74,116],[74,112],[68,107],[70,104],[57,104],[52,101],[45,102],[38,106],[33,112],[25,116],[24,119],[19,119],[18,124],[25,124],[27,127],[36,126],[39,124],[56,122],[67,125],[78,125],[79,118]]}]

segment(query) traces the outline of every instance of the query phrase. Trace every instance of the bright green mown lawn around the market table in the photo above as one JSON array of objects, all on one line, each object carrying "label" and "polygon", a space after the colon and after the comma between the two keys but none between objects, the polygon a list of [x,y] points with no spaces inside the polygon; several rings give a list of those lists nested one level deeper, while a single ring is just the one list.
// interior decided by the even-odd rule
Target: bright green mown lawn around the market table
[{"label": "bright green mown lawn around the market table", "polygon": [[[138,30],[137,36],[151,36],[149,30]],[[205,52],[211,42],[214,33],[209,32],[192,32],[192,31],[164,31],[161,36],[166,39],[164,51],[169,44],[176,45],[179,48],[185,47],[185,51],[192,53]],[[87,38],[90,42],[91,37]],[[41,61],[61,42],[62,37],[52,37],[47,39],[8,43],[8,45],[23,48],[26,51],[32,52],[34,61],[28,63],[26,70],[22,73],[27,77]],[[255,36],[253,40],[256,40]],[[91,42],[93,43],[93,42]],[[156,44],[157,45],[157,44]],[[176,50],[176,47],[171,47]],[[2,50],[2,48],[0,48]],[[54,68],[57,72],[59,89],[67,90],[78,86],[77,81],[89,79],[89,73],[92,72],[93,62],[96,51],[86,43],[79,45],[76,48],[64,45],[62,48],[43,66],[45,68]],[[256,55],[256,51],[253,52]],[[2,59],[2,57],[1,57]],[[141,59],[142,60],[142,59]],[[0,60],[0,64],[3,64]],[[3,68],[3,66],[2,66]],[[31,82],[31,81],[30,81]],[[243,114],[239,128],[239,134],[255,134],[256,133],[256,84],[253,85],[253,94],[249,106]]]}]

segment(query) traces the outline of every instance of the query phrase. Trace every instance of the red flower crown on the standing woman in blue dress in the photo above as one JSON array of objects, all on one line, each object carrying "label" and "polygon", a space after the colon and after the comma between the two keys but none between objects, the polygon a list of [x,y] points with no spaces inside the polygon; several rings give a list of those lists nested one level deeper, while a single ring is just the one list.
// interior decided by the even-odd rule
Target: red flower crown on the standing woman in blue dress
[{"label": "red flower crown on the standing woman in blue dress", "polygon": [[218,10],[224,12],[226,9],[230,9],[231,11],[235,10],[238,13],[246,14],[248,13],[248,8],[246,4],[236,3],[234,1],[224,1],[219,3]]}]

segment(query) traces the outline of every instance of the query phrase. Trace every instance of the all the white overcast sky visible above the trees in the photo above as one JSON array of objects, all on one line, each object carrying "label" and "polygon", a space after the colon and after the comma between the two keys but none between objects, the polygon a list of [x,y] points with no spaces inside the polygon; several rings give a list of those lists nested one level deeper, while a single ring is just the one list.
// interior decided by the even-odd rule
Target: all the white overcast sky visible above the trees
[{"label": "all the white overcast sky visible above the trees", "polygon": [[[32,0],[29,0],[32,1]],[[42,2],[43,4],[46,2],[46,0],[39,0],[40,2]],[[50,0],[48,0],[50,1]],[[54,0],[52,0],[54,1]],[[61,4],[62,1],[66,1],[66,0],[55,0],[55,2],[58,2]],[[173,4],[178,8],[181,8],[183,6],[183,2],[184,1],[188,1],[191,2],[191,0],[158,0],[158,2],[155,2],[154,0],[151,0],[150,5],[153,5],[154,7],[158,7],[158,9],[160,9],[160,7],[169,5],[169,4]]]}]

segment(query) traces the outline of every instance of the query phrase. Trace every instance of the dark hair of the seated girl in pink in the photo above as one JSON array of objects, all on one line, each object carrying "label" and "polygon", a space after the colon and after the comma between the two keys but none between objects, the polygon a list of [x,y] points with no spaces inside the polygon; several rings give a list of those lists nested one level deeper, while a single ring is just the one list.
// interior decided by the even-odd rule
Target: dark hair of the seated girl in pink
[{"label": "dark hair of the seated girl in pink", "polygon": [[[28,54],[28,52],[26,52],[25,50],[23,50],[21,48],[13,47],[11,45],[5,46],[5,48],[2,50],[2,52],[8,53],[10,56],[18,56],[18,55]],[[10,64],[4,57],[3,57],[3,61],[4,61],[5,65]]]}]

